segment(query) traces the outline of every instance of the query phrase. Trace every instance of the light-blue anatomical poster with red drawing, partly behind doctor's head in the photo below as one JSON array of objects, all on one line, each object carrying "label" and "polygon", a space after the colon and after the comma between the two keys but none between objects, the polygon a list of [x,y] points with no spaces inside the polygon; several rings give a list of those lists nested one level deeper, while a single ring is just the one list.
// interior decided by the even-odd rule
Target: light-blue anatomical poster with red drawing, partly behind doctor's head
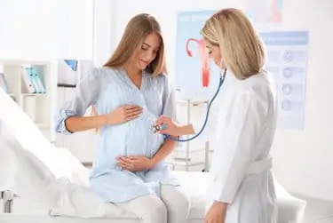
[{"label": "light-blue anatomical poster with red drawing, partly behind doctor's head", "polygon": [[208,100],[218,89],[219,69],[209,59],[200,34],[214,12],[178,13],[175,87],[197,99]]}]

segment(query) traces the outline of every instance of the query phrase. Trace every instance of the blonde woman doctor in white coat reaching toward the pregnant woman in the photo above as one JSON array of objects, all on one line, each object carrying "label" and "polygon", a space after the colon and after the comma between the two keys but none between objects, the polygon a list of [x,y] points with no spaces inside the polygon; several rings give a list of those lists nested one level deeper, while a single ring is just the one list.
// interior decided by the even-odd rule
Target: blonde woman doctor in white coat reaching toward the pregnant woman
[{"label": "blonde woman doctor in white coat reaching toward the pregnant woman", "polygon": [[[237,9],[214,14],[202,36],[226,78],[204,131],[214,148],[205,223],[275,223],[270,151],[276,110],[264,44]],[[178,126],[164,116],[156,122],[162,123],[168,127],[160,132],[172,136],[195,134],[202,127]]]}]

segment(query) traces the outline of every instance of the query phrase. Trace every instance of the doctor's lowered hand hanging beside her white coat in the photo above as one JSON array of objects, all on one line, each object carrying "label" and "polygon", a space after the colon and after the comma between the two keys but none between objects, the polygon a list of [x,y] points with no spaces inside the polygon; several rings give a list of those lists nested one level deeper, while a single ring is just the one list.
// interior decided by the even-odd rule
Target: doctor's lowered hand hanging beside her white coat
[{"label": "doctor's lowered hand hanging beside her white coat", "polygon": [[225,223],[226,205],[226,203],[215,201],[206,213],[204,223]]}]

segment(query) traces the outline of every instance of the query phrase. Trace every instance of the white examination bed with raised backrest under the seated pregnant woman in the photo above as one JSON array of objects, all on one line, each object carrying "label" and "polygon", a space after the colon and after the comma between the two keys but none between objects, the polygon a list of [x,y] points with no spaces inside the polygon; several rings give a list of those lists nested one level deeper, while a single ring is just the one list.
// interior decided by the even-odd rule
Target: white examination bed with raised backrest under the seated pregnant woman
[{"label": "white examination bed with raised backrest under the seated pregnant woman", "polygon": [[[67,148],[55,147],[0,90],[1,223],[139,223],[133,214],[92,194],[89,170]],[[172,171],[191,196],[188,223],[203,222],[208,172]],[[195,181],[195,182],[194,182]],[[274,179],[278,223],[301,223],[305,201]],[[14,197],[15,193],[15,197]],[[5,208],[4,208],[5,207]],[[1,212],[1,211],[0,211]]]}]

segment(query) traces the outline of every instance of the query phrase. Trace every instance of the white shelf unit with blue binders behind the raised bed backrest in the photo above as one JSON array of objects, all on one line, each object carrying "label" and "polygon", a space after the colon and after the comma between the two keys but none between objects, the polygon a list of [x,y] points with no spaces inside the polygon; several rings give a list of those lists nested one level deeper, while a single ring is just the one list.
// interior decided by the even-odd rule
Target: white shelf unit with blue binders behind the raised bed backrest
[{"label": "white shelf unit with blue binders behind the raised bed backrest", "polygon": [[52,100],[56,100],[56,82],[52,79],[58,73],[56,65],[51,60],[0,60],[0,73],[4,74],[9,95],[36,126],[52,132],[47,133],[50,140],[55,138]]}]

